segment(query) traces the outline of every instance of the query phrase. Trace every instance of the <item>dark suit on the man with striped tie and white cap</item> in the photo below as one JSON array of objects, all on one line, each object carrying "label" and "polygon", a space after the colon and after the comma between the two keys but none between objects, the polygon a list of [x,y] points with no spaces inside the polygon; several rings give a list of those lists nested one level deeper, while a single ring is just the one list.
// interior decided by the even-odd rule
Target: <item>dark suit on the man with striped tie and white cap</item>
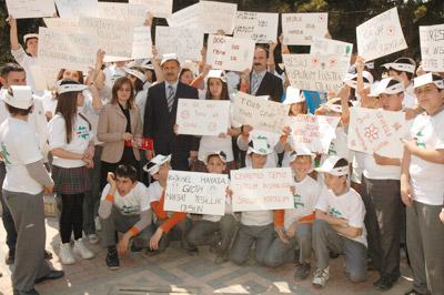
[{"label": "dark suit on the man with striped tie and white cap", "polygon": [[168,110],[165,82],[148,90],[144,112],[143,136],[154,141],[155,154],[172,154],[174,170],[188,170],[190,151],[199,151],[200,139],[191,135],[175,135],[173,128],[179,99],[199,99],[198,90],[179,82],[171,112]]}]

